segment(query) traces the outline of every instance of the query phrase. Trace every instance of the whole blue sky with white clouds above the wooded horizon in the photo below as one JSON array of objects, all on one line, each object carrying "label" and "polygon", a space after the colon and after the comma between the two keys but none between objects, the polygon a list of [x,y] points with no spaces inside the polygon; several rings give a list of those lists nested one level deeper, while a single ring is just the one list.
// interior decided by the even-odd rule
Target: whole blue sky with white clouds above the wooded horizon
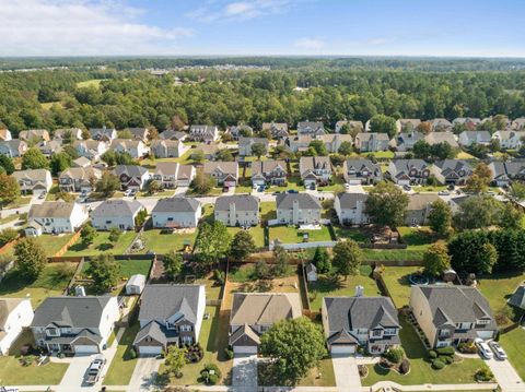
[{"label": "whole blue sky with white clouds above the wooded horizon", "polygon": [[525,0],[0,0],[0,57],[525,57]]}]

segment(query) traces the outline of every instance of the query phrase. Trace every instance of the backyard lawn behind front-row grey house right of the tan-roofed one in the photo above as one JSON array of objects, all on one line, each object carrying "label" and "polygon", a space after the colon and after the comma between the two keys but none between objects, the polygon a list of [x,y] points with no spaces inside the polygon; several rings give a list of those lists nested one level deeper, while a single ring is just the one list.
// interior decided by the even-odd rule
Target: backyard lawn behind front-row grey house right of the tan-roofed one
[{"label": "backyard lawn behind front-row grey house right of the tan-roofed one", "polygon": [[372,268],[370,265],[361,265],[358,275],[345,277],[330,277],[322,275],[317,277],[317,282],[308,283],[310,308],[312,311],[319,311],[324,297],[329,296],[353,296],[355,295],[355,286],[364,287],[364,295],[376,297],[381,295],[377,284],[370,276]]}]

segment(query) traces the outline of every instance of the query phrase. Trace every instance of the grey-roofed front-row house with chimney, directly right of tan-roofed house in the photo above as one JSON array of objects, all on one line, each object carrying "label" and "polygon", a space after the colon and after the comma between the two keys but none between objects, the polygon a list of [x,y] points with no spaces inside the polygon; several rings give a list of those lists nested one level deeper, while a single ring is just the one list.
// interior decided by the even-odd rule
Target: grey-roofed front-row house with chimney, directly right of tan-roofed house
[{"label": "grey-roofed front-row house with chimney, directly right of tan-roofed house", "polygon": [[389,297],[365,297],[358,286],[354,297],[323,298],[320,314],[326,345],[331,354],[354,354],[363,347],[381,355],[397,347],[399,319]]}]

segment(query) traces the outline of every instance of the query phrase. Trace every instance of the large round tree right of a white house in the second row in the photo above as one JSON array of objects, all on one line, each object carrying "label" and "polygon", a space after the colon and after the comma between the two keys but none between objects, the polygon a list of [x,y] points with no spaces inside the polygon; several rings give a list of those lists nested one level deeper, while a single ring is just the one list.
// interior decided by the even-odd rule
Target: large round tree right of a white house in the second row
[{"label": "large round tree right of a white house in the second row", "polygon": [[378,182],[369,192],[365,211],[371,221],[383,226],[400,226],[407,213],[408,195],[392,182]]}]

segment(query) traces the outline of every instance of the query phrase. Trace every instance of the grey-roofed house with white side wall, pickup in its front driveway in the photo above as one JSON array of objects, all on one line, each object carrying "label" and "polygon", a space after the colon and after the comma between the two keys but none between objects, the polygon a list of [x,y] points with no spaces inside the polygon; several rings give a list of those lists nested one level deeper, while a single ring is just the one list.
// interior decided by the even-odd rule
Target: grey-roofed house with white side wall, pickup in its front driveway
[{"label": "grey-roofed house with white side wall, pickup in its front driveway", "polygon": [[117,297],[47,297],[31,330],[36,345],[48,352],[94,354],[107,348],[119,318]]}]

